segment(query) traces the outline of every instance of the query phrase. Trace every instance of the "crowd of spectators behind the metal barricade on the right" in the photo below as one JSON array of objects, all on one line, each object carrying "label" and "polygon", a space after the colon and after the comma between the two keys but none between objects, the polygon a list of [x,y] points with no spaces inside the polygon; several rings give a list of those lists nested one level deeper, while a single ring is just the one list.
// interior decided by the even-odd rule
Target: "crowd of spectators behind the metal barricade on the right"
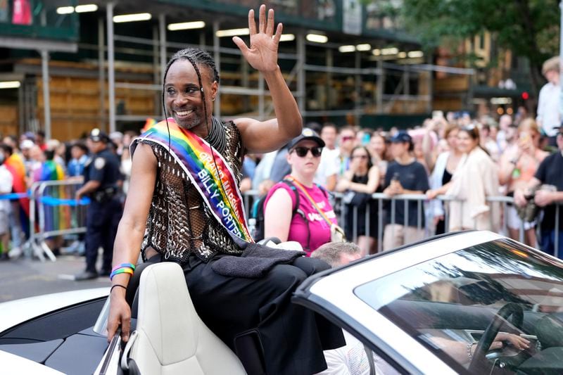
[{"label": "crowd of spectators behind the metal barricade on the right", "polygon": [[[406,130],[310,123],[306,126],[325,144],[313,180],[339,196],[339,224],[362,255],[376,253],[378,240],[388,250],[467,229],[488,229],[517,240],[522,230],[525,243],[553,254],[555,205],[562,198],[557,191],[563,191],[563,132],[557,127],[547,134],[539,120],[520,108],[516,116],[498,119],[437,113]],[[266,195],[294,173],[286,161],[288,151],[253,155],[255,173],[245,168],[244,189]],[[388,199],[372,198],[374,192],[399,196],[398,201],[391,209]],[[405,204],[405,194],[419,198]],[[382,231],[377,230],[379,221]],[[563,216],[559,223],[563,229]],[[563,236],[559,246],[563,248]]]}]

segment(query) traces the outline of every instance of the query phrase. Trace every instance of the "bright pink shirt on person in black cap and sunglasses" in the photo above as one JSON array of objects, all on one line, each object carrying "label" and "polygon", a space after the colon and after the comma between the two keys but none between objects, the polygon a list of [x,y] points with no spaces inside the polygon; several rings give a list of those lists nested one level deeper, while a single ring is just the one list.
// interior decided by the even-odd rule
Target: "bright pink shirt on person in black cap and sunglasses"
[{"label": "bright pink shirt on person in black cap and sunglasses", "polygon": [[[272,189],[268,192],[268,195],[265,200],[265,205],[267,205],[268,201],[270,201],[270,197],[277,189],[286,189],[288,191],[289,196],[291,197],[291,207],[295,207],[296,204],[296,196],[295,194],[299,194],[299,208],[295,215],[291,218],[291,224],[289,224],[289,235],[287,236],[287,241],[297,241],[301,243],[303,246],[303,250],[305,250],[308,254],[312,253],[312,251],[316,250],[319,246],[323,245],[324,243],[330,242],[330,227],[327,224],[326,220],[320,215],[319,212],[313,207],[312,203],[310,203],[309,199],[300,189],[291,189],[284,182],[278,182],[275,184]],[[311,188],[305,187],[305,190],[309,193],[313,201],[317,203],[318,208],[322,210],[325,215],[333,222],[336,222],[336,215],[334,214],[334,210],[327,199],[324,191],[320,189],[319,186],[313,185]],[[305,214],[307,217],[307,221],[303,219],[303,216],[300,212]],[[268,220],[268,218],[265,218]]]}]

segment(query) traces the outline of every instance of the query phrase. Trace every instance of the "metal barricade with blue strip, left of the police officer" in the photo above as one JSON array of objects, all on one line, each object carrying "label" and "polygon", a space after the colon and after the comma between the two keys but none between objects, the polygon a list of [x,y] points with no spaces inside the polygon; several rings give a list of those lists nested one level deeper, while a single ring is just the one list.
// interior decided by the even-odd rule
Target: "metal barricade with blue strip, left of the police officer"
[{"label": "metal barricade with blue strip, left of the police officer", "polygon": [[36,182],[31,188],[30,241],[40,260],[56,260],[46,239],[86,231],[87,199],[75,201],[82,180]]}]

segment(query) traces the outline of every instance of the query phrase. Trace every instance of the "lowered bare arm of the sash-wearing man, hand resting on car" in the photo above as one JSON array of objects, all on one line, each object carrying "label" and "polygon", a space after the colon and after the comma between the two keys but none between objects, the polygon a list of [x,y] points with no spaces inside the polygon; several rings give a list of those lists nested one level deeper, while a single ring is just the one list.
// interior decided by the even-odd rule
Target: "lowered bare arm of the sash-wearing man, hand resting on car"
[{"label": "lowered bare arm of the sash-wearing man, hand resting on car", "polygon": [[[122,263],[137,263],[155,182],[156,158],[150,146],[139,144],[133,156],[131,183],[125,201],[125,210],[113,245],[114,266]],[[129,274],[118,274],[113,277],[111,284],[127,286],[128,283]],[[113,337],[118,326],[121,326],[123,341],[129,339],[130,317],[131,310],[125,302],[125,288],[113,288],[108,317],[108,340]]]}]

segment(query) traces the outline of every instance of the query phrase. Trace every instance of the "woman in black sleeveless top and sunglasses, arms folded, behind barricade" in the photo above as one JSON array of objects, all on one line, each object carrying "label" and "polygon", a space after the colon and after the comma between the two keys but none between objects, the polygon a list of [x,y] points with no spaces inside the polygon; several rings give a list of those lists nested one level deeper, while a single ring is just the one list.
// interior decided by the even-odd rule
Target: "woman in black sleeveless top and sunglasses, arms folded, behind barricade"
[{"label": "woman in black sleeveless top and sunglasses, arms folded, behind barricade", "polygon": [[[346,237],[351,240],[358,236],[362,257],[371,254],[375,249],[378,212],[377,201],[371,196],[377,186],[379,168],[372,164],[372,155],[365,146],[356,146],[350,155],[350,169],[336,185],[336,191],[347,191],[344,195]],[[366,216],[369,216],[369,227]]]}]

